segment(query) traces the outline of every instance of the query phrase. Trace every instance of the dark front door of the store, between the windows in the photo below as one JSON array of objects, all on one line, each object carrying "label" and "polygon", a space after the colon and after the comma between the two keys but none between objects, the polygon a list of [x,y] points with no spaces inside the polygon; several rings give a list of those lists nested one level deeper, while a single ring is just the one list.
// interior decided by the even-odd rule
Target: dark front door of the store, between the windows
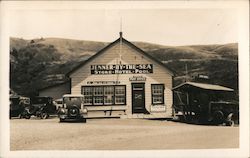
[{"label": "dark front door of the store, between the windows", "polygon": [[145,113],[145,84],[132,83],[132,113]]}]

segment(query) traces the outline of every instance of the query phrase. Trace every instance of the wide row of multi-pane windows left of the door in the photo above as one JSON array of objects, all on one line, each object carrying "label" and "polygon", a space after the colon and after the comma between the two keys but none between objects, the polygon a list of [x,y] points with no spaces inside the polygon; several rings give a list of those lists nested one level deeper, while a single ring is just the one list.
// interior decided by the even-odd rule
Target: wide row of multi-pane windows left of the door
[{"label": "wide row of multi-pane windows left of the door", "polygon": [[124,105],[126,86],[82,86],[85,105]]}]

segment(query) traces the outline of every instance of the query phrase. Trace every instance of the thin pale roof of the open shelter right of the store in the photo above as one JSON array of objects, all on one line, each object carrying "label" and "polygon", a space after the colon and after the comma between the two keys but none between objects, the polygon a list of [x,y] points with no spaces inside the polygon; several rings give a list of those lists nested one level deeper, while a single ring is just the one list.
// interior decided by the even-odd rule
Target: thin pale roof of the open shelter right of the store
[{"label": "thin pale roof of the open shelter right of the store", "polygon": [[174,87],[173,90],[181,88],[181,87],[186,87],[186,86],[192,86],[192,87],[196,87],[196,88],[201,88],[201,89],[205,89],[205,90],[214,90],[214,91],[234,91],[231,88],[220,86],[220,85],[197,83],[197,82],[185,82],[185,83],[182,83],[182,84]]}]

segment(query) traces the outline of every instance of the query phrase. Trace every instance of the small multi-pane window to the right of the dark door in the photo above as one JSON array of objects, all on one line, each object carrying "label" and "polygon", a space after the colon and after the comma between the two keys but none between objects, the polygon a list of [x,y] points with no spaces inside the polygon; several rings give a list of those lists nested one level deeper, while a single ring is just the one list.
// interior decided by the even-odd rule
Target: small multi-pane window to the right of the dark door
[{"label": "small multi-pane window to the right of the dark door", "polygon": [[164,84],[152,84],[152,104],[164,104]]}]

